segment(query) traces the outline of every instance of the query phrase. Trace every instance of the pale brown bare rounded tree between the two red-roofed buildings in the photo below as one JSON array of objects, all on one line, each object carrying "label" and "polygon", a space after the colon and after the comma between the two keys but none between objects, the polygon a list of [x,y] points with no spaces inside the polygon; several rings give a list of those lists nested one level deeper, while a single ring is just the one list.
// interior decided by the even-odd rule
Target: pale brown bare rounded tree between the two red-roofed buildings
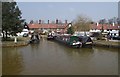
[{"label": "pale brown bare rounded tree between the two red-roofed buildings", "polygon": [[86,31],[90,30],[91,19],[84,15],[77,16],[76,20],[74,21],[74,30],[75,31],[84,31],[86,35]]}]

